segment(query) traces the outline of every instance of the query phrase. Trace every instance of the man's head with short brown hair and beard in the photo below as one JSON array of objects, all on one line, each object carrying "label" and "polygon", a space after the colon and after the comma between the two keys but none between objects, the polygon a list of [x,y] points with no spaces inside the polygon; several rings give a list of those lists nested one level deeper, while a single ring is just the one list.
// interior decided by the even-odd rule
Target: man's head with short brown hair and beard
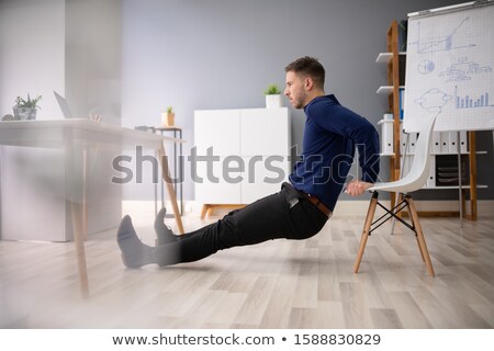
[{"label": "man's head with short brown hair and beard", "polygon": [[284,94],[295,109],[305,106],[315,97],[324,94],[325,70],[316,58],[301,57],[284,68]]}]

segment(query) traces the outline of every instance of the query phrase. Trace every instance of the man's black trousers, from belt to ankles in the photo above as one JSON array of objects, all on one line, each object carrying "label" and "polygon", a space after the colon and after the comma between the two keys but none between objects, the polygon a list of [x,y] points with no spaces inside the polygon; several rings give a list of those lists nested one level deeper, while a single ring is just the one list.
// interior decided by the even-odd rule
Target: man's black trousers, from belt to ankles
[{"label": "man's black trousers, from belt to ankles", "polygon": [[291,184],[225,217],[180,236],[155,250],[161,267],[203,259],[218,250],[270,239],[306,239],[317,234],[327,216]]}]

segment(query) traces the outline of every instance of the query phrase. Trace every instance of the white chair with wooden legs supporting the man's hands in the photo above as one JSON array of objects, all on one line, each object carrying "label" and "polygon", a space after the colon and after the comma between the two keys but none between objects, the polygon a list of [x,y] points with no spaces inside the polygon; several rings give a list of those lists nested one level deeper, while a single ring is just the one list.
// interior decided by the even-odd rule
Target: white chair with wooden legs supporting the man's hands
[{"label": "white chair with wooden legs supporting the man's hands", "polygon": [[[396,218],[415,233],[418,249],[420,251],[423,261],[426,263],[427,271],[430,276],[435,275],[433,263],[430,262],[429,251],[427,250],[427,245],[424,238],[424,233],[422,231],[420,222],[418,220],[417,210],[415,208],[414,201],[409,193],[424,186],[429,176],[430,141],[433,138],[434,124],[436,123],[437,115],[438,114],[436,114],[427,123],[425,123],[422,131],[419,132],[417,144],[415,145],[414,161],[412,163],[409,173],[397,181],[375,183],[372,188],[369,189],[369,191],[372,192],[372,199],[367,212],[362,237],[360,239],[360,248],[357,254],[357,260],[353,264],[353,273],[358,273],[359,271],[363,250],[366,249],[367,239],[369,238],[370,234],[390,218]],[[402,195],[402,201],[396,206],[389,210],[378,201],[379,192],[381,191],[396,192],[396,195],[400,193]],[[385,214],[377,220],[372,222],[375,214],[375,207],[378,205],[385,211]],[[408,216],[411,218],[409,224],[397,216],[397,213],[405,208],[408,211]]]}]

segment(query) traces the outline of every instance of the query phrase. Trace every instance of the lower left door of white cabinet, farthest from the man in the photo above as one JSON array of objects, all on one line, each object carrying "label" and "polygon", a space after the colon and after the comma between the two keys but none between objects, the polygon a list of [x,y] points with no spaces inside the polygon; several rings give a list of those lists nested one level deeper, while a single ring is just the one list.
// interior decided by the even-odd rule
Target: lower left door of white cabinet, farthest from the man
[{"label": "lower left door of white cabinet, farthest from the man", "polygon": [[214,162],[195,162],[195,165],[197,172],[192,170],[192,181],[195,184],[197,202],[202,204],[242,204],[239,179],[242,171],[232,171],[235,165],[225,166],[225,158],[220,158]]}]

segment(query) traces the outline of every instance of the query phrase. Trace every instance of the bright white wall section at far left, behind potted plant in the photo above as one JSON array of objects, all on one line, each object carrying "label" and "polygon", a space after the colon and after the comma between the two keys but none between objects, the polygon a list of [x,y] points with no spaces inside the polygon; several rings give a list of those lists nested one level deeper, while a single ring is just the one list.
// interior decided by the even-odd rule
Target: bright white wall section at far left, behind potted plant
[{"label": "bright white wall section at far left, behind potted plant", "polygon": [[15,98],[42,95],[37,118],[59,116],[65,90],[65,1],[0,1],[0,116]]}]

